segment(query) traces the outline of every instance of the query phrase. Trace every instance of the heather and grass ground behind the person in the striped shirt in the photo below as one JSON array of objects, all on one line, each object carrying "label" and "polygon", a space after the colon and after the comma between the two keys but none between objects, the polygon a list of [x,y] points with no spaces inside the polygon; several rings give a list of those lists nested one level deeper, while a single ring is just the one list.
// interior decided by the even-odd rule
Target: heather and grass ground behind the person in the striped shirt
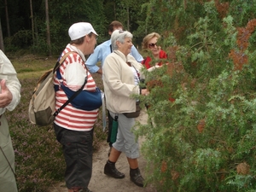
[{"label": "heather and grass ground behind the person in the striped shirt", "polygon": [[[12,61],[12,60],[11,60]],[[20,103],[14,111],[6,112],[9,130],[15,149],[15,169],[20,192],[47,191],[56,181],[63,181],[65,162],[61,145],[55,139],[52,125],[38,127],[28,119],[28,105],[38,78],[55,66],[51,61],[23,59],[12,61],[21,84]],[[93,74],[96,84],[103,88],[102,76]],[[100,110],[94,131],[94,148],[98,149],[107,133],[102,131],[102,111]]]}]

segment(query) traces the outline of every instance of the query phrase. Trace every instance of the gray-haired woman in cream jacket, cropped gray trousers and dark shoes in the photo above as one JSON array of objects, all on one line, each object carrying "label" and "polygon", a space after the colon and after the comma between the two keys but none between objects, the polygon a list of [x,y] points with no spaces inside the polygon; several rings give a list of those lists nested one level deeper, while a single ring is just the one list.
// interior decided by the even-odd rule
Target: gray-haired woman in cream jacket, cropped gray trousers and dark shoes
[{"label": "gray-haired woman in cream jacket, cropped gray trousers and dark shoes", "polygon": [[129,166],[131,181],[143,187],[144,179],[138,168],[139,145],[131,129],[135,118],[127,118],[124,113],[136,111],[137,99],[132,95],[148,95],[148,90],[139,87],[142,64],[137,62],[131,52],[132,34],[116,30],[111,35],[113,53],[107,56],[103,64],[103,84],[107,108],[113,119],[118,119],[118,133],[113,143],[104,173],[114,178],[124,178],[115,163],[119,155],[125,153]]}]

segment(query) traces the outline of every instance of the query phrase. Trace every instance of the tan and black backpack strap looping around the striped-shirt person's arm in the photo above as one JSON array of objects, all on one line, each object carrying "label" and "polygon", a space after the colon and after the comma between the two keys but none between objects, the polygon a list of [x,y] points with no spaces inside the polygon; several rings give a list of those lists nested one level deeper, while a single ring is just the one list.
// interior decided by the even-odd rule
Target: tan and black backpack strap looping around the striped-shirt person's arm
[{"label": "tan and black backpack strap looping around the striped-shirt person's arm", "polygon": [[[56,68],[55,68],[53,71],[56,71],[56,70],[61,66],[61,63],[67,58],[67,55],[69,55],[69,54],[72,53],[72,52],[75,53],[74,51],[70,51],[70,52],[67,52],[65,55],[63,55],[63,57],[65,56],[65,58],[64,58],[63,60],[62,60],[63,57],[61,58],[61,61],[59,62],[59,65],[57,65],[57,64],[58,64],[58,61],[57,61],[56,65],[55,65]],[[68,53],[69,53],[69,54],[68,54]],[[85,66],[85,67],[86,67],[86,66]],[[84,84],[80,87],[79,90],[77,90],[77,91],[73,94],[73,96],[71,96],[71,97],[67,100],[67,102],[65,102],[65,103],[61,106],[61,108],[58,108],[58,109],[55,111],[55,113],[53,114],[53,116],[57,116],[58,113],[60,113],[61,110],[62,110],[63,108],[65,108],[69,102],[72,102],[73,99],[74,99],[76,96],[78,96],[79,93],[84,89],[84,85],[87,83],[87,77],[88,77],[88,69],[86,68],[86,70],[87,70],[87,76],[86,76],[85,79],[84,79]],[[60,71],[57,71],[57,73],[60,73]],[[57,75],[57,77],[58,77],[58,79],[60,79],[58,75]]]}]

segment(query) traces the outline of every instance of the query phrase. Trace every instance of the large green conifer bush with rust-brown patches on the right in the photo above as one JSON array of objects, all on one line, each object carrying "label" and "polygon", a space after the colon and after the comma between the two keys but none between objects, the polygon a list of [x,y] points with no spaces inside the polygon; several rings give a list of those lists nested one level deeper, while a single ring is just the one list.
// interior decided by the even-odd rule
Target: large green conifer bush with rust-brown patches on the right
[{"label": "large green conifer bush with rust-brown patches on the right", "polygon": [[252,2],[148,3],[155,15],[171,16],[154,29],[164,36],[168,64],[145,72],[148,124],[137,131],[146,137],[147,182],[158,191],[256,189]]}]

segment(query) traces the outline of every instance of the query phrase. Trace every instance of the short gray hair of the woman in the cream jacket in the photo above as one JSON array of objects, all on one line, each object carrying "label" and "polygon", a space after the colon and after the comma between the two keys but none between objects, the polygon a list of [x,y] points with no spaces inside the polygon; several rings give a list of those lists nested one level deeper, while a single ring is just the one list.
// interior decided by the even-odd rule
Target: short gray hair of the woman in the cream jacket
[{"label": "short gray hair of the woman in the cream jacket", "polygon": [[116,44],[117,41],[119,41],[121,44],[124,44],[125,38],[132,38],[131,32],[127,31],[122,31],[122,30],[115,30],[112,32],[111,35],[111,44],[112,44],[112,49],[117,50],[118,46]]}]

